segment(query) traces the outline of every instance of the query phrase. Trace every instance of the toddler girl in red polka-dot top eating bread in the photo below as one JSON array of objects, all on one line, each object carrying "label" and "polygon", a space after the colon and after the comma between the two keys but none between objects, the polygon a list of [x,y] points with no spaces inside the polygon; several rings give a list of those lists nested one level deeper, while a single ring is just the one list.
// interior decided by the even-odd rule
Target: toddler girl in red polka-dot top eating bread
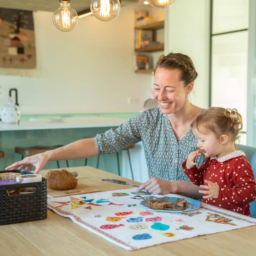
[{"label": "toddler girl in red polka-dot top eating bread", "polygon": [[[203,202],[250,215],[249,203],[255,199],[256,184],[252,167],[243,151],[236,150],[235,140],[243,122],[235,108],[209,108],[191,124],[198,151],[182,164],[188,178],[204,190]],[[197,168],[196,157],[206,156]]]}]

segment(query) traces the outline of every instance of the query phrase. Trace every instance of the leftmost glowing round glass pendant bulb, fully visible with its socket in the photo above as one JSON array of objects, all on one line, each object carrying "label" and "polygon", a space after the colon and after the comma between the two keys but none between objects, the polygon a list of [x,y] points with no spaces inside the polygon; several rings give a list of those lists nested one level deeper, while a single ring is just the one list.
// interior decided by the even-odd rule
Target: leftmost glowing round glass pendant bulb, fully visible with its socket
[{"label": "leftmost glowing round glass pendant bulb, fully visible with its socket", "polygon": [[61,31],[68,32],[76,28],[78,23],[78,15],[76,11],[70,7],[70,0],[59,0],[60,8],[52,15],[52,21],[56,28]]}]

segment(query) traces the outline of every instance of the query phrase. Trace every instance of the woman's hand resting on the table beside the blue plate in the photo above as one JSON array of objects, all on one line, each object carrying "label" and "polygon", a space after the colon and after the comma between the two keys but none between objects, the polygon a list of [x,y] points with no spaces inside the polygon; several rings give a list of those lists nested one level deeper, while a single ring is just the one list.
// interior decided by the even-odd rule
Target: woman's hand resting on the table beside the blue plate
[{"label": "woman's hand resting on the table beside the blue plate", "polygon": [[169,193],[176,193],[175,181],[167,181],[158,178],[152,178],[140,185],[137,188],[137,192],[140,192],[142,189],[145,189],[149,193],[154,195],[163,195]]}]

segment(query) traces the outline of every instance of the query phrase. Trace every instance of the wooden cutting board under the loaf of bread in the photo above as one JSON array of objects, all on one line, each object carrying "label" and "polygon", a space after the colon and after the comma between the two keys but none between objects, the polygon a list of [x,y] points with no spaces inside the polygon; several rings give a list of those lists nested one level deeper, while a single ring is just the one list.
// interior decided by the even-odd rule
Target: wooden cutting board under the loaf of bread
[{"label": "wooden cutting board under the loaf of bread", "polygon": [[47,188],[47,196],[50,198],[60,197],[60,196],[80,195],[80,194],[95,193],[95,192],[100,192],[100,189],[95,189],[84,184],[77,184],[76,188],[66,189],[66,190],[54,190],[51,188]]}]

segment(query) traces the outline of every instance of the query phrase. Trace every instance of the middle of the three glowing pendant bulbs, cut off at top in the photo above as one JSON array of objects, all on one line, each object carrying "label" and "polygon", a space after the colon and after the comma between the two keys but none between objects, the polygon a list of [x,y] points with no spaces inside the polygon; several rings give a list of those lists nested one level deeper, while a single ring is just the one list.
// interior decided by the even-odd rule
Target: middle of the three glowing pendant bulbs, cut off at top
[{"label": "middle of the three glowing pendant bulbs, cut off at top", "polygon": [[109,21],[116,18],[120,12],[119,0],[92,0],[92,14],[101,21]]}]

